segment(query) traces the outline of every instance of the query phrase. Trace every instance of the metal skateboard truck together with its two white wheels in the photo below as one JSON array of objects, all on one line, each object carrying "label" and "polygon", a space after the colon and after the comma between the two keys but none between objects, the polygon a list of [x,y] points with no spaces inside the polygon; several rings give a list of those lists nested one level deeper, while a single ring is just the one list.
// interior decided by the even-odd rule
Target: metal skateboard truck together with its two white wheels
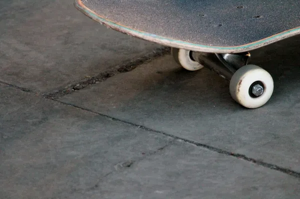
[{"label": "metal skateboard truck together with its two white wheels", "polygon": [[271,75],[257,65],[248,64],[249,52],[210,53],[172,48],[177,63],[187,70],[207,67],[230,81],[232,98],[247,108],[257,108],[265,104],[273,92]]}]

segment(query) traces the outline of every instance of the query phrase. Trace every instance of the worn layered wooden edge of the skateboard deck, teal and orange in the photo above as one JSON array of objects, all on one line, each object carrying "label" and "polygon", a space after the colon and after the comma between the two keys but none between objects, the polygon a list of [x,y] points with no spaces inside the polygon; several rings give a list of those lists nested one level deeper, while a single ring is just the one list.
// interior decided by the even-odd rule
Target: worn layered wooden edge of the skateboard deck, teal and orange
[{"label": "worn layered wooden edge of the skateboard deck, teal and orange", "polygon": [[257,40],[255,42],[243,44],[243,45],[236,45],[236,46],[214,46],[214,45],[203,45],[197,44],[192,42],[186,42],[181,40],[175,40],[172,38],[167,38],[155,34],[151,34],[148,32],[143,32],[137,29],[133,29],[127,27],[125,25],[119,24],[115,21],[111,21],[105,19],[104,16],[101,16],[87,6],[84,5],[82,0],[74,0],[74,6],[81,11],[83,14],[88,16],[89,18],[99,22],[102,25],[105,25],[108,28],[113,30],[122,32],[124,34],[128,34],[133,37],[137,37],[146,41],[154,42],[157,44],[175,47],[175,48],[183,48],[187,50],[193,51],[202,51],[202,52],[212,52],[212,53],[238,53],[238,52],[245,52],[250,51],[259,47],[263,47],[265,45],[274,43],[276,41],[283,40],[285,38],[300,34],[300,26],[285,30],[283,32],[271,35],[269,37]]}]

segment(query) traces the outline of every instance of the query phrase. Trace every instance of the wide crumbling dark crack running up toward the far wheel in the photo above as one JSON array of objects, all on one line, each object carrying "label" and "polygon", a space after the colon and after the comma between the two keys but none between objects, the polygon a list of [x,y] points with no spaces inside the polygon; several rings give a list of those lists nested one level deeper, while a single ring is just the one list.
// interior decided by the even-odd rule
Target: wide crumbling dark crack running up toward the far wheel
[{"label": "wide crumbling dark crack running up toward the far wheel", "polygon": [[116,66],[114,66],[114,69],[112,69],[112,70],[101,72],[96,76],[87,77],[79,82],[76,82],[67,87],[61,88],[58,91],[44,93],[43,96],[45,98],[56,100],[64,95],[70,94],[77,90],[81,90],[89,85],[104,81],[107,78],[112,77],[116,74],[129,72],[129,71],[133,70],[134,68],[136,68],[137,66],[139,66],[143,63],[149,62],[152,59],[155,59],[159,56],[165,55],[169,52],[170,52],[169,47],[154,49],[152,52],[150,52],[146,55],[143,55],[137,59],[134,59],[133,61],[129,61],[129,62],[121,64],[121,65],[116,65]]}]

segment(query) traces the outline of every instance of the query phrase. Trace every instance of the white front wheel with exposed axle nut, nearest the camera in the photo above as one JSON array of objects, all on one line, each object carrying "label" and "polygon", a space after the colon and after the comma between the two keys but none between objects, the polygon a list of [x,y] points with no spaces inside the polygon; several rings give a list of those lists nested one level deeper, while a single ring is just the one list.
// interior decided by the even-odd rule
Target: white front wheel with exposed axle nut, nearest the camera
[{"label": "white front wheel with exposed axle nut, nearest the camera", "polygon": [[229,90],[232,98],[246,108],[264,105],[273,93],[271,75],[257,65],[239,68],[230,80]]}]

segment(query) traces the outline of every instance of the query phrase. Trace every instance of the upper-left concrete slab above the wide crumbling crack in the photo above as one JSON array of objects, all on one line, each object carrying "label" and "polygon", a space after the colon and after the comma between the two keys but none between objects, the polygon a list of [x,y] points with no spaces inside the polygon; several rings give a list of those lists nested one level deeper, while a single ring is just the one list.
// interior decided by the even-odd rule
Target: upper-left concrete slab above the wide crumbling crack
[{"label": "upper-left concrete slab above the wide crumbling crack", "polygon": [[107,29],[73,0],[0,5],[0,80],[20,87],[55,90],[161,47]]}]

